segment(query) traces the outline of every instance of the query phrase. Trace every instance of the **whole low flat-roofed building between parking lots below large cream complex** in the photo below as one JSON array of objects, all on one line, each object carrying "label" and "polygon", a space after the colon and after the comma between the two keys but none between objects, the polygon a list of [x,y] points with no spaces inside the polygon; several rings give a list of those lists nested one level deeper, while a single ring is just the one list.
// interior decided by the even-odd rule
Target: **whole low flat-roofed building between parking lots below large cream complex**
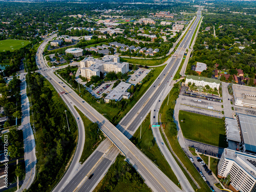
[{"label": "whole low flat-roofed building between parking lots below large cream complex", "polygon": [[132,86],[132,84],[130,83],[126,83],[126,82],[120,82],[118,84],[117,87],[115,87],[110,93],[109,95],[107,95],[104,98],[105,102],[110,102],[110,100],[115,100],[115,101],[120,101],[123,98],[124,99],[129,99],[131,93],[127,92],[128,89],[130,89],[130,87]]}]

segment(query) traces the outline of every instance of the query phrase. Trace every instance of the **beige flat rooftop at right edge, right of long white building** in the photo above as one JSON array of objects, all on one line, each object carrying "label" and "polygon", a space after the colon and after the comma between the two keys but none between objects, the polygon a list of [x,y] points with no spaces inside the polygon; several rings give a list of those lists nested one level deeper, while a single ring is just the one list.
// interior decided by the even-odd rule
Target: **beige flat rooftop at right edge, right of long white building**
[{"label": "beige flat rooftop at right edge, right of long white building", "polygon": [[242,100],[243,103],[256,104],[256,88],[233,84],[234,98]]}]

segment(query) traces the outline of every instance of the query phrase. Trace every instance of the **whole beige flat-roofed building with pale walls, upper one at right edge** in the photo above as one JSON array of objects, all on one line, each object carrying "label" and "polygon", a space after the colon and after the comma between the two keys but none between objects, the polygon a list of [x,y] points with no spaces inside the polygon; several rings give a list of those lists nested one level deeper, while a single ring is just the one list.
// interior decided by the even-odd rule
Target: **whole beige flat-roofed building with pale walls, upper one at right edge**
[{"label": "whole beige flat-roofed building with pale walls, upper one at right edge", "polygon": [[256,88],[232,84],[234,104],[256,109]]}]

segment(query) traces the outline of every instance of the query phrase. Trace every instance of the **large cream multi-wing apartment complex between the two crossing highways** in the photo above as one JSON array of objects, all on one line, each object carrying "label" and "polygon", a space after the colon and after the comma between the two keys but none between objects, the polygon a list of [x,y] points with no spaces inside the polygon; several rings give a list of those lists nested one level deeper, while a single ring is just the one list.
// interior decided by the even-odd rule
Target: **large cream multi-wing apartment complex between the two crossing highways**
[{"label": "large cream multi-wing apartment complex between the two crossing highways", "polygon": [[100,72],[114,71],[122,74],[129,72],[129,63],[120,63],[120,58],[114,55],[106,55],[102,60],[88,57],[80,61],[81,76],[91,79],[92,76],[100,76]]}]

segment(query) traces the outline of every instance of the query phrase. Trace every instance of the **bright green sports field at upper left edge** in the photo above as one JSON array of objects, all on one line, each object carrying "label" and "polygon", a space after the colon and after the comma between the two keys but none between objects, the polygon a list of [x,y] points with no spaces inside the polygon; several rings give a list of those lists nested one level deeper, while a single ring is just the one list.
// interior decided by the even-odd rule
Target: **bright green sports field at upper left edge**
[{"label": "bright green sports field at upper left edge", "polygon": [[25,47],[28,44],[30,44],[28,40],[15,40],[15,39],[0,40],[0,52],[14,51],[16,49]]}]

